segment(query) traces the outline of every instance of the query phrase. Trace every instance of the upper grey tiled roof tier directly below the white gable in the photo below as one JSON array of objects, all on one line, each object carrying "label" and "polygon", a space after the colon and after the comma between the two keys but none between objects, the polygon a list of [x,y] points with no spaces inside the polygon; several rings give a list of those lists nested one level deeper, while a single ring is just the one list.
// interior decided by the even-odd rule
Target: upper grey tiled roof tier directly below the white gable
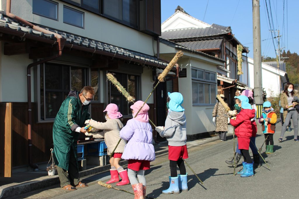
[{"label": "upper grey tiled roof tier directly below the white gable", "polygon": [[[213,24],[214,25],[214,24]],[[161,38],[164,39],[183,39],[183,38],[199,38],[199,37],[208,37],[208,36],[219,36],[231,33],[230,28],[216,28],[213,27],[207,28],[186,28],[186,29],[178,29],[178,30],[167,30],[162,32]],[[219,27],[219,25],[217,25]]]}]

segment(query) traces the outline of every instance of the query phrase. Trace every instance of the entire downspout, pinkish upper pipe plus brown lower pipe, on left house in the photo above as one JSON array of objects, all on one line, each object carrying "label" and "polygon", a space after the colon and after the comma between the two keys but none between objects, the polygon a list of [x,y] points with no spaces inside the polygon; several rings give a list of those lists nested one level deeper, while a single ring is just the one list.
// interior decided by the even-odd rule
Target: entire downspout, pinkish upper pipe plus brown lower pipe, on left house
[{"label": "entire downspout, pinkish upper pipe plus brown lower pipe, on left house", "polygon": [[36,61],[34,63],[31,63],[27,66],[27,102],[28,102],[28,164],[30,167],[32,167],[35,170],[38,170],[38,166],[36,164],[32,163],[32,140],[31,140],[31,125],[32,125],[32,109],[31,109],[31,67],[45,63],[47,61],[50,61],[52,59],[55,59],[57,57],[60,57],[62,55],[62,50],[65,44],[65,38],[62,38],[61,35],[54,33],[52,31],[43,29],[41,27],[38,27],[36,25],[31,24],[30,22],[26,21],[25,19],[22,19],[16,15],[14,15],[13,13],[10,13],[10,7],[11,7],[11,0],[7,0],[6,1],[6,15],[9,16],[10,18],[13,18],[17,21],[19,21],[22,24],[25,24],[29,27],[31,27],[33,30],[37,30],[40,31],[42,33],[46,33],[46,34],[53,34],[56,38],[57,38],[57,42],[58,42],[58,47],[59,47],[59,53],[57,55],[51,56],[49,58],[40,60],[40,61]]}]

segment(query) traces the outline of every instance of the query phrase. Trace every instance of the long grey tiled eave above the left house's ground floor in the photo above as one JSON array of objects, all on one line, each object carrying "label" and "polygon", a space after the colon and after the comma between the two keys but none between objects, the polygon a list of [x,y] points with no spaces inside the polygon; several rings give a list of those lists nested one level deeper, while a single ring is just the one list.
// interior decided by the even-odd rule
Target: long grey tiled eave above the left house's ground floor
[{"label": "long grey tiled eave above the left house's ground floor", "polygon": [[[0,15],[0,27],[2,28],[8,28],[11,30],[15,30],[21,33],[25,34],[30,34],[36,37],[41,37],[41,38],[46,38],[46,39],[51,39],[53,41],[56,41],[56,38],[54,37],[53,34],[45,34],[42,32],[39,32],[37,30],[33,30],[29,26],[25,26],[20,24],[18,21],[15,21],[9,17],[3,16],[2,14]],[[42,27],[42,26],[40,26]],[[111,53],[112,55],[118,55],[118,57],[123,57],[123,58],[132,58],[132,59],[137,59],[144,61],[145,64],[153,64],[154,66],[161,66],[161,67],[166,67],[167,63],[159,61],[157,58],[151,56],[151,55],[146,55],[142,53],[138,53],[132,50],[124,49],[121,47],[117,47],[114,45],[106,44],[94,39],[74,35],[71,33],[63,32],[61,30],[55,30],[51,29],[48,27],[42,27],[45,28],[46,30],[50,30],[54,33],[60,34],[62,38],[65,38],[65,44],[71,44],[74,46],[80,46],[80,47],[85,47],[88,49],[92,50],[98,50],[98,51],[103,51],[106,53]],[[147,63],[146,63],[147,62]]]}]

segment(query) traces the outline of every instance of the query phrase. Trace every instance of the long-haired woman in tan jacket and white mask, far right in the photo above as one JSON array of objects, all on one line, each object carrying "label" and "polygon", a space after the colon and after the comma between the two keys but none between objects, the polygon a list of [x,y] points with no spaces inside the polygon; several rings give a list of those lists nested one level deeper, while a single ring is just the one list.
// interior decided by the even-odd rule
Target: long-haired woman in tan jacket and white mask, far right
[{"label": "long-haired woman in tan jacket and white mask, far right", "polygon": [[280,138],[278,139],[279,142],[282,142],[283,135],[286,132],[286,128],[291,120],[293,119],[293,125],[294,125],[294,141],[299,142],[298,140],[298,116],[297,111],[294,108],[296,105],[298,105],[297,102],[292,102],[294,97],[298,97],[298,93],[294,92],[294,84],[288,82],[286,83],[286,86],[284,87],[284,91],[280,96],[280,106],[283,107],[283,119],[284,124],[281,129]]}]

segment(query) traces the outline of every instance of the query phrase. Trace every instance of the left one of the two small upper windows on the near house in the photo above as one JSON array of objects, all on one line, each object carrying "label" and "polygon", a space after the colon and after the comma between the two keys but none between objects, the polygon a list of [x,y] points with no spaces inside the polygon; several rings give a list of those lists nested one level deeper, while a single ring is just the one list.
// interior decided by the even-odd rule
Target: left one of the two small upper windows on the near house
[{"label": "left one of the two small upper windows on the near house", "polygon": [[32,13],[43,17],[58,20],[57,16],[58,3],[49,0],[33,0]]}]

